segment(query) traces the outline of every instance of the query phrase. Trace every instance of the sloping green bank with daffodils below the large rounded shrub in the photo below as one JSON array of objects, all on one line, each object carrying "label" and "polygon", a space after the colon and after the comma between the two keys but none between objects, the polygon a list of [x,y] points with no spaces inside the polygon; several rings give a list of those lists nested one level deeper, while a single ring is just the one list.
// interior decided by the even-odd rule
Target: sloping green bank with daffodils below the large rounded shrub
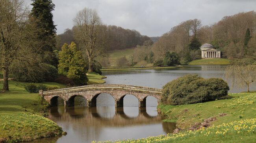
[{"label": "sloping green bank with daffodils below the large rounded shrub", "polygon": [[[256,140],[256,93],[232,94],[234,98],[189,105],[159,105],[158,110],[176,122],[182,130],[143,139],[115,141],[116,143],[252,143]],[[199,127],[205,119],[209,127]],[[204,125],[204,124],[201,124]],[[112,143],[105,141],[100,143]]]}]

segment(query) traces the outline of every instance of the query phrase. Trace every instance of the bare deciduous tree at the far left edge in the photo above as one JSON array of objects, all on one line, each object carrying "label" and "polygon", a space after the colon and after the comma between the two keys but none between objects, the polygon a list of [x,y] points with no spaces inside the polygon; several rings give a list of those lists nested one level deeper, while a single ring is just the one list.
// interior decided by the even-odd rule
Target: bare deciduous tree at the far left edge
[{"label": "bare deciduous tree at the far left edge", "polygon": [[0,70],[3,91],[9,91],[9,67],[16,60],[26,35],[28,11],[22,0],[0,0]]}]

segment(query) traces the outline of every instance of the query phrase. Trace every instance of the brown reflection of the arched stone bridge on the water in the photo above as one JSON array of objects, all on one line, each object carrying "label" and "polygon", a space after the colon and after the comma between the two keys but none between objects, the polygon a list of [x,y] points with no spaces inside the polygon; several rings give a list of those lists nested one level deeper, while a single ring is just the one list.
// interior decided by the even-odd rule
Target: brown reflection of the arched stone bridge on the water
[{"label": "brown reflection of the arched stone bridge on the water", "polygon": [[[124,108],[134,108],[133,115],[129,115],[125,112]],[[134,116],[134,112],[137,110],[137,115]],[[147,107],[150,108],[150,107]],[[156,107],[151,107],[156,108]],[[108,112],[105,112],[108,110]],[[102,111],[102,113],[101,113]],[[51,107],[49,117],[54,121],[65,120],[72,124],[79,123],[81,127],[88,127],[94,125],[94,127],[123,127],[130,125],[147,125],[152,123],[160,123],[163,116],[157,114],[154,116],[147,113],[146,107]]]}]

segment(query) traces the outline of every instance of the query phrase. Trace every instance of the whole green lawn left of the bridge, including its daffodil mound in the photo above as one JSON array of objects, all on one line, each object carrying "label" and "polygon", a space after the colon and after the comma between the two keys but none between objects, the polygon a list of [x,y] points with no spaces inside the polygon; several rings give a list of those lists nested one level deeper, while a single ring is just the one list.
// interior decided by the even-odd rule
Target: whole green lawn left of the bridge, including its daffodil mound
[{"label": "whole green lawn left of the bridge, including its daffodil mound", "polygon": [[[44,118],[46,103],[38,94],[30,94],[24,85],[9,81],[9,92],[0,93],[0,142],[31,141],[37,138],[58,136],[62,129]],[[65,87],[58,83],[44,83],[48,87]],[[0,87],[3,81],[0,81]]]}]

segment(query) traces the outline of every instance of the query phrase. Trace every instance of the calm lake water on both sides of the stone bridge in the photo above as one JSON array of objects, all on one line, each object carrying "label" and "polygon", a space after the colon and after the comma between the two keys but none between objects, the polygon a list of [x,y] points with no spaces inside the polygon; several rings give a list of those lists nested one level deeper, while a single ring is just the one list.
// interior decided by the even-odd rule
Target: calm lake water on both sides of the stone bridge
[{"label": "calm lake water on both sides of the stone bridge", "polygon": [[[176,69],[150,69],[130,71],[106,71],[106,84],[127,84],[161,88],[167,82],[185,74],[198,74],[204,78],[223,78],[225,65],[184,66]],[[231,86],[230,81],[227,81]],[[251,88],[253,89],[253,87]],[[254,86],[255,90],[255,86]],[[233,88],[230,92],[246,91]],[[79,107],[85,101],[75,99],[78,107],[52,107],[52,119],[67,132],[66,136],[45,138],[31,143],[90,143],[91,141],[118,140],[124,138],[145,138],[173,132],[174,123],[161,122],[157,113],[157,100],[147,98],[147,107],[139,109],[138,100],[132,95],[124,97],[124,106],[115,109],[115,101],[109,94],[100,94],[97,107]]]}]

